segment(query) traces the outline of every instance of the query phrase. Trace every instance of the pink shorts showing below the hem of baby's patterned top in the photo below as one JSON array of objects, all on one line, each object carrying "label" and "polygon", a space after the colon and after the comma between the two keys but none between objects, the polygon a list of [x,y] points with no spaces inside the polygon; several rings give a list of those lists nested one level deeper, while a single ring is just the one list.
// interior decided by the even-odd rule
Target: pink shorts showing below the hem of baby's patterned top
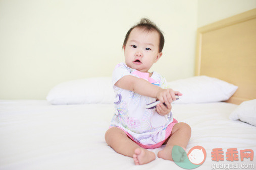
[{"label": "pink shorts showing below the hem of baby's patterned top", "polygon": [[[173,126],[174,126],[176,123],[178,123],[178,121],[173,118],[173,122],[170,123],[170,124],[167,126],[167,128],[166,128],[165,139],[164,139],[163,141],[161,141],[161,142],[159,142],[159,143],[156,143],[156,144],[153,144],[153,145],[143,145],[143,144],[141,144],[141,143],[138,143],[138,142],[134,141],[132,135],[130,135],[129,133],[127,133],[124,129],[122,129],[121,127],[118,127],[118,126],[116,126],[116,127],[122,129],[122,130],[127,134],[127,136],[128,136],[129,138],[131,138],[132,141],[134,141],[135,143],[137,143],[137,145],[139,145],[140,147],[145,148],[145,149],[155,149],[155,148],[161,147],[161,146],[163,145],[163,143],[165,143],[166,139],[171,135]],[[111,126],[110,128],[113,128],[113,127],[115,127],[115,126]]]}]

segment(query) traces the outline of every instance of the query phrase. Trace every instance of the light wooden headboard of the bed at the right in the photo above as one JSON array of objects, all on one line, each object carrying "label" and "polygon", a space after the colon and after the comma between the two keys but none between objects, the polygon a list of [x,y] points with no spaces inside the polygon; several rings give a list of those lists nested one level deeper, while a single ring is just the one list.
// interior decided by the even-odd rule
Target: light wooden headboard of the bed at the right
[{"label": "light wooden headboard of the bed at the right", "polygon": [[238,86],[229,103],[256,99],[256,9],[198,28],[195,75]]}]

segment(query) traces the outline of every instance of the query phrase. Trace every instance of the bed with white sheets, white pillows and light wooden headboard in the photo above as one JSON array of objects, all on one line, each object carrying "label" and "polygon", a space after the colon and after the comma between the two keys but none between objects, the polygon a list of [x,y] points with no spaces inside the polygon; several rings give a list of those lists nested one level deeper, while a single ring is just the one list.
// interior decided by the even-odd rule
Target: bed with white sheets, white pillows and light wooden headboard
[{"label": "bed with white sheets, white pillows and light wooden headboard", "polygon": [[[207,152],[197,169],[256,168],[255,153],[253,160],[240,156],[244,149],[256,151],[255,122],[246,117],[256,108],[255,47],[256,9],[199,28],[196,76],[169,82],[184,95],[172,112],[192,128],[186,152],[196,145]],[[0,169],[183,169],[158,157],[136,166],[109,147],[104,135],[113,99],[111,77],[94,77],[58,84],[47,100],[1,100]],[[225,160],[212,160],[216,148]],[[230,148],[239,160],[226,160]]]}]

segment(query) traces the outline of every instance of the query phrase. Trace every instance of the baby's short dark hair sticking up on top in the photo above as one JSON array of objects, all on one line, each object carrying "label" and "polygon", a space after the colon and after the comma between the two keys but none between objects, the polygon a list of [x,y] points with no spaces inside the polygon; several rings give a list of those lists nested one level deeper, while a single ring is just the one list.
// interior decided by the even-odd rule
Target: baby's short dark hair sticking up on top
[{"label": "baby's short dark hair sticking up on top", "polygon": [[162,52],[162,50],[164,48],[164,44],[165,44],[164,35],[163,35],[162,31],[157,27],[157,25],[155,23],[151,22],[147,18],[142,18],[138,24],[136,24],[135,26],[130,28],[130,30],[126,33],[123,46],[126,46],[129,35],[135,27],[142,28],[142,29],[144,29],[145,31],[148,31],[148,32],[149,31],[157,31],[159,33],[159,37],[160,37],[160,39],[159,39],[160,40],[159,41],[159,52]]}]

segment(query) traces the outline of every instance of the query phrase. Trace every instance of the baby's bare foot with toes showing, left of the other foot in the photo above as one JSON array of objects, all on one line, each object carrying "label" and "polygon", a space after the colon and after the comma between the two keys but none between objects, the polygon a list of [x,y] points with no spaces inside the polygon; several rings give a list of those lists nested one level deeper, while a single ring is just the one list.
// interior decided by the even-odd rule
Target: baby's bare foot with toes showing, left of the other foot
[{"label": "baby's bare foot with toes showing, left of the other foot", "polygon": [[133,160],[136,165],[145,164],[156,159],[156,155],[146,149],[137,148],[134,150]]}]

